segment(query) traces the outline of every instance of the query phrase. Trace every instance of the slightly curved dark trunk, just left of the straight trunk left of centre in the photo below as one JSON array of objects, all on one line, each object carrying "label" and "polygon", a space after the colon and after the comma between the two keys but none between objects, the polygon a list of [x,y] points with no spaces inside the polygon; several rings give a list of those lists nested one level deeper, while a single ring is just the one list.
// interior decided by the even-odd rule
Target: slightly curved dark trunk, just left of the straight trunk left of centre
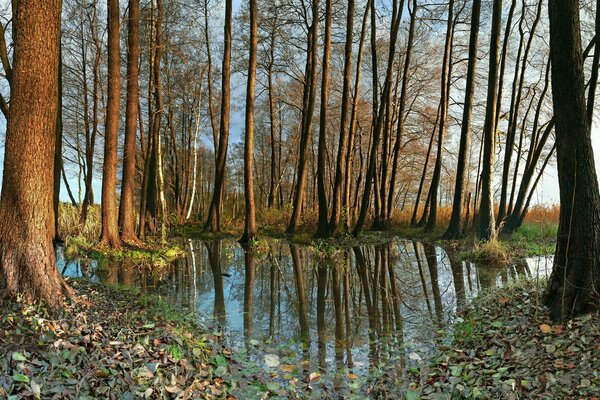
[{"label": "slightly curved dark trunk, just left of the straight trunk left of centre", "polygon": [[[204,229],[211,233],[221,230],[221,203],[225,183],[227,145],[229,140],[229,102],[231,71],[231,4],[225,0],[225,24],[223,25],[223,67],[221,69],[221,124],[219,126],[219,146],[215,158],[215,184]],[[209,102],[212,101],[209,99]]]}]

